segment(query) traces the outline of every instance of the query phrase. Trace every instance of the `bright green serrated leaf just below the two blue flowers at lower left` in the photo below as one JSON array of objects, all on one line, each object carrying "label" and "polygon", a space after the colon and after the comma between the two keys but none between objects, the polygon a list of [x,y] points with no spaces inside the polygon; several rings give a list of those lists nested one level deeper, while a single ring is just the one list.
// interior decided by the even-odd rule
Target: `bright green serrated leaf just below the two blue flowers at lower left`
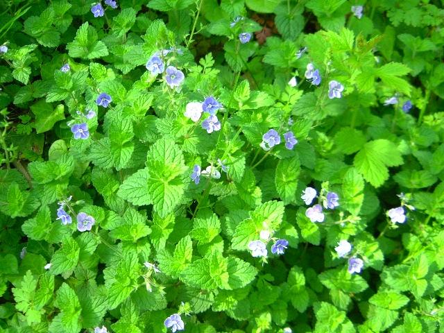
[{"label": "bright green serrated leaf just below the two blue flowers at lower left", "polygon": [[49,272],[57,275],[72,271],[78,262],[80,248],[76,241],[71,237],[66,237],[62,241],[62,247],[54,253],[51,258],[51,268]]}]

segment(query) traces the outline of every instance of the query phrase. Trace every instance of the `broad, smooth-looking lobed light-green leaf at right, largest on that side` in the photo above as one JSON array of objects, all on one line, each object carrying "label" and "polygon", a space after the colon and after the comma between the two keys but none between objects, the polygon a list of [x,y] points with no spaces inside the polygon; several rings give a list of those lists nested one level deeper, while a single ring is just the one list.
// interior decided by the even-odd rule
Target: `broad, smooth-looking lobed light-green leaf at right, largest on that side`
[{"label": "broad, smooth-looking lobed light-green leaf at right, largest on that side", "polygon": [[402,164],[402,156],[393,142],[377,139],[367,142],[356,154],[354,162],[364,179],[379,187],[388,179],[387,167]]}]

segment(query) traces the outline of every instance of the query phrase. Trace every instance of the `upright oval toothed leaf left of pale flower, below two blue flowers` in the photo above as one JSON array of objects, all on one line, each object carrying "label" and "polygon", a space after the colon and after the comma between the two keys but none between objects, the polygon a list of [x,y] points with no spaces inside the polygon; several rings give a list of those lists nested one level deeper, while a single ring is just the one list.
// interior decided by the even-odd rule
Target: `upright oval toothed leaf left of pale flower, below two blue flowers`
[{"label": "upright oval toothed leaf left of pale flower, below two blue flowers", "polygon": [[297,156],[278,162],[275,184],[284,205],[288,205],[296,200],[299,172],[300,162]]}]

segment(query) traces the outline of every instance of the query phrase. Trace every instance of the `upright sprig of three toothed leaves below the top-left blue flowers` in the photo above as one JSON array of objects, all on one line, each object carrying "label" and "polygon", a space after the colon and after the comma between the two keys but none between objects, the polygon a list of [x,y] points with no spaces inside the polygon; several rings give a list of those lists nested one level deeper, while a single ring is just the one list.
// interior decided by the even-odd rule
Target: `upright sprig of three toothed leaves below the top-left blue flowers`
[{"label": "upright sprig of three toothed leaves below the top-left blue flowers", "polygon": [[98,40],[96,29],[85,22],[78,28],[73,42],[67,44],[72,58],[94,59],[108,56],[105,43]]}]

